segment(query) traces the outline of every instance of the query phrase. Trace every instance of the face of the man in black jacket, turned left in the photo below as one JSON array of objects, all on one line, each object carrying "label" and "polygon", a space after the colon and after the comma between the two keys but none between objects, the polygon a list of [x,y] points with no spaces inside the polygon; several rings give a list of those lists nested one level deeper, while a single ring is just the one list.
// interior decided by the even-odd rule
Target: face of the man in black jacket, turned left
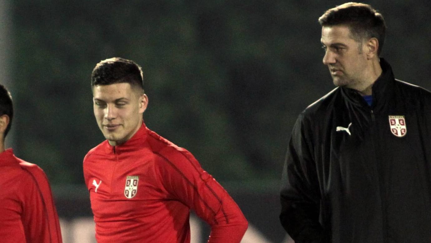
[{"label": "face of the man in black jacket, turned left", "polygon": [[365,43],[355,41],[345,25],[323,26],[321,42],[334,85],[358,90],[368,70]]}]

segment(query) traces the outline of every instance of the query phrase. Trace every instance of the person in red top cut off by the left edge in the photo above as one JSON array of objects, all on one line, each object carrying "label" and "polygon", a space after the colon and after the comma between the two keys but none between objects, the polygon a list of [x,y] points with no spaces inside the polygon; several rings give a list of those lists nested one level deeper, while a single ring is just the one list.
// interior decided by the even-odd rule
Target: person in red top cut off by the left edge
[{"label": "person in red top cut off by the left edge", "polygon": [[61,243],[60,224],[44,171],[5,150],[12,97],[0,85],[0,242]]}]

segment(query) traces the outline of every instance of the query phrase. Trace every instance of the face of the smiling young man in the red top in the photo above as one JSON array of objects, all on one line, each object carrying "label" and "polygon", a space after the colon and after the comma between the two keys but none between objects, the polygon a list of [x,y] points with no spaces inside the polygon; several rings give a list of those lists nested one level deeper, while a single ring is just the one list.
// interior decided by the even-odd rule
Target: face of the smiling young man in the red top
[{"label": "face of the smiling young man in the red top", "polygon": [[93,88],[94,116],[110,145],[120,145],[137,132],[147,104],[147,95],[134,90],[128,83]]}]

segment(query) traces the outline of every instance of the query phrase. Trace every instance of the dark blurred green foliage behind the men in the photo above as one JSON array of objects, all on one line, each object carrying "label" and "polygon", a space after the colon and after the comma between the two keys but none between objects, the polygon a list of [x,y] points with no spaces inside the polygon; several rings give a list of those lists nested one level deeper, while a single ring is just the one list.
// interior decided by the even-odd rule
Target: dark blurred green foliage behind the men
[{"label": "dark blurred green foliage behind the men", "polygon": [[[387,25],[383,56],[431,89],[429,1],[369,1]],[[109,57],[144,70],[150,129],[220,181],[278,180],[297,115],[332,88],[317,19],[339,1],[15,0],[16,155],[53,184],[84,183],[103,141],[90,74]]]}]

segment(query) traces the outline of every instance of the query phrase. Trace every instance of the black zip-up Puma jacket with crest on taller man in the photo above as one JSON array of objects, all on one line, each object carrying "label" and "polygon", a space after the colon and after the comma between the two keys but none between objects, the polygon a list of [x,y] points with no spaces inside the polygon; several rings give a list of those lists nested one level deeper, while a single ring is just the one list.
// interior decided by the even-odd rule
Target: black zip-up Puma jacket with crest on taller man
[{"label": "black zip-up Puma jacket with crest on taller man", "polygon": [[371,107],[338,87],[295,123],[280,215],[295,243],[431,242],[431,93],[380,63]]}]

